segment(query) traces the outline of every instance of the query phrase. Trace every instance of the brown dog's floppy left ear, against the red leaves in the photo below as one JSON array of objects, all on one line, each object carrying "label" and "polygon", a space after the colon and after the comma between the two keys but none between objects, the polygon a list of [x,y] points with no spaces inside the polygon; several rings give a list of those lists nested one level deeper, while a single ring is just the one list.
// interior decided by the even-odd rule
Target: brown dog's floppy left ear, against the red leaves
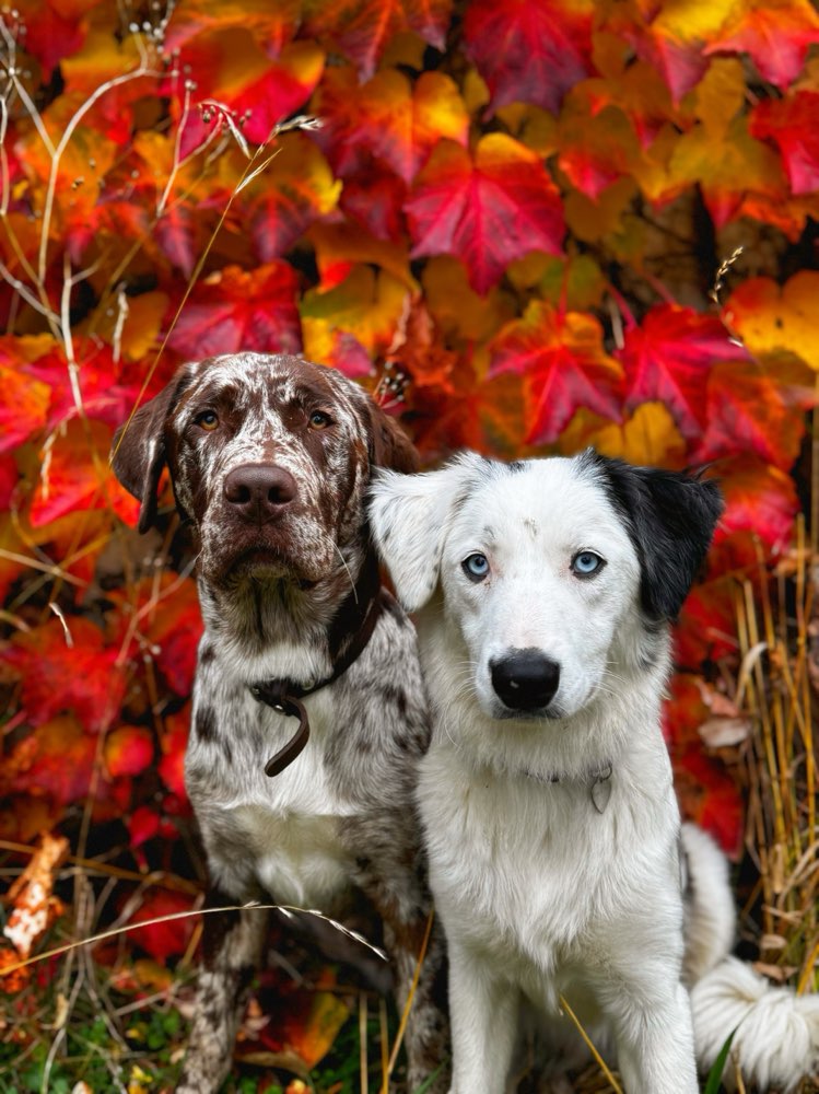
[{"label": "brown dog's floppy left ear, against the red leaves", "polygon": [[162,468],[165,466],[165,422],[187,387],[196,365],[183,365],[154,398],[134,410],[114,434],[112,467],[122,486],[140,502],[139,531],[156,522]]}]

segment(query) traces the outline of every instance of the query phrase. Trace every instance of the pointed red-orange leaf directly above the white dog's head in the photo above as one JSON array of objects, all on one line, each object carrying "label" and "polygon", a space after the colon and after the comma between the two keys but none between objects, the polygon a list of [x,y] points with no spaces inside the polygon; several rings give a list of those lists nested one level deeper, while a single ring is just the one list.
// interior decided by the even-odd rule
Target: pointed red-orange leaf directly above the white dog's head
[{"label": "pointed red-orange leaf directly above the white dog's head", "polygon": [[533,301],[491,344],[490,374],[517,372],[527,382],[527,443],[555,440],[575,410],[618,420],[622,370],[602,348],[602,328],[585,312]]}]

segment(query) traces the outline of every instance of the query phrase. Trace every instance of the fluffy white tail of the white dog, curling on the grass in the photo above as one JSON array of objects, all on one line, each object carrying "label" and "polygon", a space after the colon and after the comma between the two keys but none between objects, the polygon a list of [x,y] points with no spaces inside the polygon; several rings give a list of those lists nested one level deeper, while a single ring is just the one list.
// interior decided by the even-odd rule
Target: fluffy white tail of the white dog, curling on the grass
[{"label": "fluffy white tail of the white dog, curling on the grass", "polygon": [[734,1033],[723,1081],[738,1067],[759,1090],[793,1091],[819,1068],[819,996],[776,987],[730,956],[734,900],[727,862],[695,825],[683,825],[686,977],[700,1069],[707,1072]]}]

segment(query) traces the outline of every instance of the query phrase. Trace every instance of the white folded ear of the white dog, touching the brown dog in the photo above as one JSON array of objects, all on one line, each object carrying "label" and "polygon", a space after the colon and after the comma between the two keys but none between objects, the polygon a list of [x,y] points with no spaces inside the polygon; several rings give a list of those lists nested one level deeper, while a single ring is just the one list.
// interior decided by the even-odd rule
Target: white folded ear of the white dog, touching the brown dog
[{"label": "white folded ear of the white dog, touching the brown dog", "polygon": [[463,453],[437,472],[376,472],[370,488],[370,526],[408,612],[423,607],[435,592],[453,504],[482,463],[481,456]]}]

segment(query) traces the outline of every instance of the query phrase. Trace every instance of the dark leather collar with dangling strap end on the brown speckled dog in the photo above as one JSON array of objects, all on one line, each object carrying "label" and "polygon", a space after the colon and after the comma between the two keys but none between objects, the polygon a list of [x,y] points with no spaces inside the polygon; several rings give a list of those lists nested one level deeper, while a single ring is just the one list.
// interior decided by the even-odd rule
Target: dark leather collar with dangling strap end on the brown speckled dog
[{"label": "dark leather collar with dangling strap end on the brown speckled dog", "polygon": [[[363,607],[363,618],[361,619],[359,629],[334,660],[332,672],[329,676],[326,676],[317,684],[311,683],[309,686],[302,686],[301,684],[296,684],[289,679],[259,680],[256,684],[248,685],[250,694],[259,702],[264,702],[268,707],[272,707],[273,710],[278,710],[282,714],[289,714],[291,718],[299,719],[299,729],[295,731],[293,736],[282,748],[279,749],[278,753],[276,753],[276,755],[271,756],[265,765],[265,775],[270,778],[276,775],[280,775],[285,767],[292,764],[307,744],[307,740],[309,737],[309,720],[307,718],[307,711],[305,710],[304,703],[301,700],[304,699],[305,696],[313,695],[314,691],[320,691],[323,687],[327,687],[328,684],[332,684],[332,682],[337,680],[342,673],[346,673],[350,665],[353,664],[353,662],[356,661],[363,653],[367,642],[372,638],[375,625],[378,621],[382,610],[384,609],[385,602],[389,596],[389,593],[385,589],[378,587],[376,589],[375,595],[370,598],[368,603],[361,605],[361,602],[359,601],[360,592],[360,586],[356,586],[356,589],[350,594],[350,597],[348,597],[348,602],[352,602],[355,606],[355,614],[359,616],[361,615],[361,609]],[[348,602],[346,602],[346,605],[342,607],[340,615],[346,614],[346,608],[350,606]]]}]

